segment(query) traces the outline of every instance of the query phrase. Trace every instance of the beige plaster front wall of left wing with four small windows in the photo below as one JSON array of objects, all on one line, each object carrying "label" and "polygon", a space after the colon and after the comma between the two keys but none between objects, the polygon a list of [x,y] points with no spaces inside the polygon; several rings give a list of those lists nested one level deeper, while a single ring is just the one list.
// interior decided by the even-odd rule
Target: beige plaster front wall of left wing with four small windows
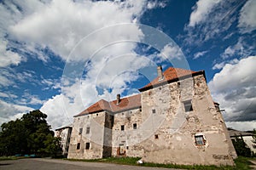
[{"label": "beige plaster front wall of left wing with four small windows", "polygon": [[[73,133],[71,135],[68,156],[73,159],[96,159],[102,158],[103,135],[104,135],[105,112],[79,116],[74,118]],[[90,127],[90,133],[86,128]],[[81,134],[79,129],[83,128]],[[80,143],[80,149],[77,144]],[[90,143],[90,149],[85,150],[85,144]]]}]

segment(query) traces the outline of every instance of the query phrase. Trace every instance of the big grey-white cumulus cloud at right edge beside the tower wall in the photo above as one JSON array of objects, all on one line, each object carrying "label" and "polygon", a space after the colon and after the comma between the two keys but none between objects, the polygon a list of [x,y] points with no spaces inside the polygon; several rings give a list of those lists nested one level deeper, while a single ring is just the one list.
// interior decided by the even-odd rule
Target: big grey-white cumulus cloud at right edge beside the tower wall
[{"label": "big grey-white cumulus cloud at right edge beside the tower wall", "polygon": [[[213,99],[224,108],[227,122],[256,120],[256,56],[226,64],[209,82]],[[233,123],[234,124],[234,123]]]}]

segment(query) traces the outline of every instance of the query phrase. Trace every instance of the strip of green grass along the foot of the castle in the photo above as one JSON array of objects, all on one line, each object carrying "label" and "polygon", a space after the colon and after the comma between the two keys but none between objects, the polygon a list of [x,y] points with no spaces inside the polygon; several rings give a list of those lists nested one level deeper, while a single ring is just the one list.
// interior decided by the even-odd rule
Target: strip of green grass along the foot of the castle
[{"label": "strip of green grass along the foot of the castle", "polygon": [[138,165],[137,161],[140,160],[139,157],[109,157],[104,159],[91,159],[91,160],[79,160],[79,159],[67,159],[68,161],[86,161],[86,162],[106,162],[106,163],[116,163],[123,165],[132,166],[143,166],[143,167],[166,167],[166,168],[177,168],[177,169],[200,169],[200,170],[247,170],[252,169],[249,166],[252,164],[249,160],[251,158],[239,156],[235,162],[236,166],[204,166],[204,165],[176,165],[176,164],[159,164],[159,163],[143,163]]}]

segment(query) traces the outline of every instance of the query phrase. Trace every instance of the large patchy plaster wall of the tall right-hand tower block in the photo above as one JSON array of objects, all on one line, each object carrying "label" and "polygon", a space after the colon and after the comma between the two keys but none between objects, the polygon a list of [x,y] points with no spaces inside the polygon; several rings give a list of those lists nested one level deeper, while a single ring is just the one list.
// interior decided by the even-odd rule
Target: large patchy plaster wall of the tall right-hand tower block
[{"label": "large patchy plaster wall of the tall right-hand tower block", "polygon": [[[188,99],[192,99],[193,111],[185,112],[183,101]],[[144,161],[233,165],[223,118],[213,105],[202,75],[145,91],[142,101],[143,121],[150,115],[166,117],[160,125],[151,125],[158,127],[142,144]],[[195,145],[196,134],[204,136],[205,145]]]}]

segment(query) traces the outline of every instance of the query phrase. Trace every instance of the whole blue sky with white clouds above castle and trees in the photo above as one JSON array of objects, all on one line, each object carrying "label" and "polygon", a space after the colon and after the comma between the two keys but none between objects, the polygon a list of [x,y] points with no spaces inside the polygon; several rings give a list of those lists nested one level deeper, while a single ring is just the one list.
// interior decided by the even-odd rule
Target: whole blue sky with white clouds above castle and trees
[{"label": "whole blue sky with white clouds above castle and trees", "polygon": [[228,127],[256,128],[255,11],[253,0],[1,1],[0,123],[40,109],[53,128],[70,124],[163,65],[205,70]]}]

